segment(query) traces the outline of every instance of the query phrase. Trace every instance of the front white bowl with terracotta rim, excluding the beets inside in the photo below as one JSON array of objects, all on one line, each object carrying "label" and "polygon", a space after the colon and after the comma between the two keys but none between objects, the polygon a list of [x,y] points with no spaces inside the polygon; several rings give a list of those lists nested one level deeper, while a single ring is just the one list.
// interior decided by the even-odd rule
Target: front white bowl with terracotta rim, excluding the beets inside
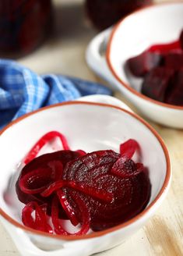
[{"label": "front white bowl with terracotta rim, excluding the beets inside", "polygon": [[[133,138],[142,148],[141,161],[150,172],[150,202],[139,215],[111,229],[83,236],[58,236],[21,223],[23,204],[16,197],[19,163],[33,144],[50,130],[68,138],[73,150],[113,149]],[[90,255],[121,244],[160,206],[171,181],[170,159],[164,142],[149,124],[132,112],[113,105],[72,101],[42,108],[10,123],[0,133],[0,214],[22,255]],[[49,250],[49,251],[45,251]]]}]

